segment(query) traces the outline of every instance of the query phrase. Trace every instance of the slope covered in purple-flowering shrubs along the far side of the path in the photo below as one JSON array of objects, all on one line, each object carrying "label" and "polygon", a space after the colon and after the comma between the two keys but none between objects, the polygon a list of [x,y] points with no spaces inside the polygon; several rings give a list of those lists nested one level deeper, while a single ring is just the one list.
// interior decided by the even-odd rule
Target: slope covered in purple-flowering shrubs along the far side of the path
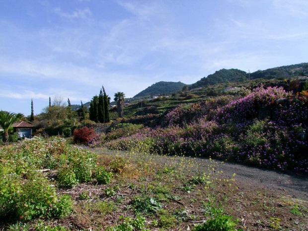
[{"label": "slope covered in purple-flowering shrubs along the far side of the path", "polygon": [[219,100],[175,108],[164,127],[93,145],[123,150],[147,146],[162,154],[211,156],[308,173],[308,142],[300,135],[308,128],[307,96],[259,87],[229,102],[226,96]]}]

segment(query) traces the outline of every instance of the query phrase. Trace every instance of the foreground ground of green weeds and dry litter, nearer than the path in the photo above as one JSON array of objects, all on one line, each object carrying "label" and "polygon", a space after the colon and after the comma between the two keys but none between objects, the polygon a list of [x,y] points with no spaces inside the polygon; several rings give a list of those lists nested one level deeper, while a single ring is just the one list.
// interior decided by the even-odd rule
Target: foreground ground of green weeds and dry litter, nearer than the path
[{"label": "foreground ground of green weeds and dry litter, nearer than the path", "polygon": [[97,155],[61,138],[0,149],[0,227],[256,231],[303,230],[307,224],[307,201],[243,191],[212,159],[138,150],[93,150]]}]

